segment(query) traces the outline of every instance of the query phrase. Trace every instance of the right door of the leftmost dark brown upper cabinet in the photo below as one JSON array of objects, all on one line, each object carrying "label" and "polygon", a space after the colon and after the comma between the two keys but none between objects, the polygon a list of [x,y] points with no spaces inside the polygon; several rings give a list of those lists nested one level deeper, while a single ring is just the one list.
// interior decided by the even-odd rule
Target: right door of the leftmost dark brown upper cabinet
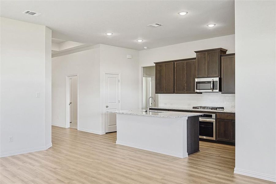
[{"label": "right door of the leftmost dark brown upper cabinet", "polygon": [[164,93],[174,92],[174,62],[165,63],[165,89]]}]

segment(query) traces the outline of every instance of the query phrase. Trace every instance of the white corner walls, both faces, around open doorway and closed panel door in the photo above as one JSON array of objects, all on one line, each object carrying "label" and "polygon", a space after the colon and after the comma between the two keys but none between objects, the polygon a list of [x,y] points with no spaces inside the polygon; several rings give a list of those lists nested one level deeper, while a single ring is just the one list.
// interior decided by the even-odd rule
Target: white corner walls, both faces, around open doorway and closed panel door
[{"label": "white corner walls, both faces, around open doorway and closed panel door", "polygon": [[[121,73],[121,108],[139,108],[138,51],[99,44],[71,52],[52,58],[52,125],[65,127],[66,124],[65,76],[68,74],[78,74],[78,130],[104,133],[104,72]],[[127,59],[127,55],[132,55],[132,59]]]}]

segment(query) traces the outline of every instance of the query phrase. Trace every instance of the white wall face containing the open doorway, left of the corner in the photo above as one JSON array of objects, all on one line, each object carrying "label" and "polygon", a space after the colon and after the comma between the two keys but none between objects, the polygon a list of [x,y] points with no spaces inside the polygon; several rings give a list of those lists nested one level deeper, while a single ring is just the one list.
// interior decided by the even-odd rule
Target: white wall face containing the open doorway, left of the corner
[{"label": "white wall face containing the open doorway, left of the corner", "polygon": [[52,125],[66,125],[66,75],[78,74],[78,129],[102,133],[100,125],[100,45],[52,58]]}]

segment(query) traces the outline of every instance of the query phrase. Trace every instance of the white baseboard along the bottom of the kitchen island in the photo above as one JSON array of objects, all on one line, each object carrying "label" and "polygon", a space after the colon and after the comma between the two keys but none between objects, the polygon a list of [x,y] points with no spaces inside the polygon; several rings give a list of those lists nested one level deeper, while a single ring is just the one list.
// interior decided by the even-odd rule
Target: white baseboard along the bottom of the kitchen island
[{"label": "white baseboard along the bottom of the kitchen island", "polygon": [[118,140],[116,141],[116,144],[120,144],[120,145],[123,145],[123,146],[129,146],[129,147],[132,147],[132,148],[138,148],[138,149],[142,149],[142,150],[147,150],[147,151],[152,151],[152,152],[156,152],[156,153],[161,153],[161,154],[165,154],[165,155],[176,156],[176,157],[179,157],[179,158],[188,157],[188,153],[180,154],[180,153],[175,153],[175,152],[171,152],[171,151],[151,148],[151,147],[147,147],[147,146],[141,146],[141,145],[137,145],[137,144],[126,143],[126,142],[122,142],[122,141],[118,141]]}]

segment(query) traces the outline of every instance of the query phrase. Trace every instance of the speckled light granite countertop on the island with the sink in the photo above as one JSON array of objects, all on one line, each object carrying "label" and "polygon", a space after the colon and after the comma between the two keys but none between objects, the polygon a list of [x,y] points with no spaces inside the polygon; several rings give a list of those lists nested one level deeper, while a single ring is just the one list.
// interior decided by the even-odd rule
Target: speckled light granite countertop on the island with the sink
[{"label": "speckled light granite countertop on the island with the sink", "polygon": [[185,118],[189,116],[199,116],[202,113],[185,113],[185,112],[168,112],[168,111],[157,111],[150,110],[149,114],[142,109],[135,110],[117,110],[117,111],[107,111],[107,113],[116,113],[116,114],[130,114],[130,115],[139,115],[139,116],[154,116],[154,117],[167,117],[167,118]]}]

